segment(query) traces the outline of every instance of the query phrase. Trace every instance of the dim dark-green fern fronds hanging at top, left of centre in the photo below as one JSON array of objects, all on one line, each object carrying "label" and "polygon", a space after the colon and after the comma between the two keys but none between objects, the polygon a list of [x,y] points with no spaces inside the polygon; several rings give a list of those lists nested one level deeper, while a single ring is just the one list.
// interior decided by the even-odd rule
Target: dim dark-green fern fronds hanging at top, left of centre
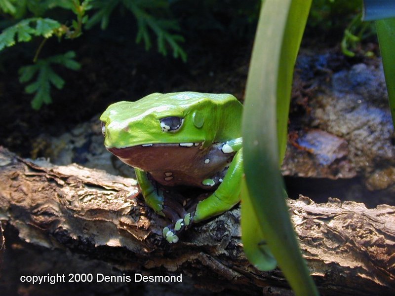
[{"label": "dim dark-green fern fronds hanging at top, left of centre", "polygon": [[157,36],[158,51],[167,55],[167,45],[173,51],[173,57],[180,57],[184,62],[187,54],[179,45],[184,37],[172,32],[179,32],[178,22],[169,18],[170,9],[167,0],[94,0],[92,6],[97,10],[87,22],[87,27],[100,22],[102,29],[106,29],[110,15],[116,7],[123,5],[137,20],[138,32],[136,42],[144,41],[146,50],[152,47],[150,31]]}]

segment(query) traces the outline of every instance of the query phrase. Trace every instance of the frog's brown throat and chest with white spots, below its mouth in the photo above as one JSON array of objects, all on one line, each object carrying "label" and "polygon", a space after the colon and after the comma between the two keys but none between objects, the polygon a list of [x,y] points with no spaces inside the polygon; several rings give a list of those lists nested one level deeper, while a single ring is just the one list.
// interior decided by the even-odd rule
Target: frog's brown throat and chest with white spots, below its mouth
[{"label": "frog's brown throat and chest with white spots, below its mouth", "polygon": [[[212,179],[216,185],[222,181],[235,153],[224,153],[223,143],[202,148],[200,144],[191,147],[179,144],[153,144],[129,148],[110,148],[124,163],[149,172],[155,181],[165,186],[203,185],[205,179]],[[213,185],[214,187],[214,185]]]}]

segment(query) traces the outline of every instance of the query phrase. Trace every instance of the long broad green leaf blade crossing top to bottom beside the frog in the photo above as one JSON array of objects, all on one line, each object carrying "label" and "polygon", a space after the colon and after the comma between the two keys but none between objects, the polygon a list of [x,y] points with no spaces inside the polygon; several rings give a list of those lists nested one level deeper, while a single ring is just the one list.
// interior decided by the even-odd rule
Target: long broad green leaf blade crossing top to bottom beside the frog
[{"label": "long broad green leaf blade crossing top to bottom beside the frog", "polygon": [[242,203],[250,198],[265,242],[298,296],[316,296],[318,292],[290,221],[279,165],[285,153],[293,68],[310,5],[311,0],[266,0],[263,3],[248,73],[242,124],[249,193],[242,195]]}]

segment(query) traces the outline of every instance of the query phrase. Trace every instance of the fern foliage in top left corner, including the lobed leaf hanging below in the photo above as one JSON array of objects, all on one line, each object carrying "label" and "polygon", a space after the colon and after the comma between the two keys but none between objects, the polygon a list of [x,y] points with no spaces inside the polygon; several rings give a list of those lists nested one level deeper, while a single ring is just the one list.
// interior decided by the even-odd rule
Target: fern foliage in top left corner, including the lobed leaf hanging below
[{"label": "fern foliage in top left corner, including the lobed leaf hanging below", "polygon": [[[15,23],[5,28],[0,34],[0,50],[5,47],[15,45],[17,42],[29,42],[33,37],[43,37],[33,58],[34,65],[25,66],[19,69],[20,82],[28,82],[37,74],[37,80],[26,86],[25,91],[29,94],[35,93],[32,100],[33,109],[40,109],[43,103],[52,102],[50,96],[51,85],[58,89],[63,88],[65,81],[56,74],[51,64],[62,65],[72,70],[80,68],[75,58],[75,53],[70,51],[63,55],[55,55],[46,59],[38,59],[45,40],[57,36],[59,38],[76,38],[82,31],[82,25],[86,22],[86,11],[90,9],[90,0],[0,0],[0,9],[3,13],[8,13],[15,19]],[[73,12],[76,20],[72,21],[71,26],[61,24],[51,18],[43,18],[47,10],[61,7]],[[35,17],[23,18],[33,14]],[[17,21],[17,19],[22,18]]]}]

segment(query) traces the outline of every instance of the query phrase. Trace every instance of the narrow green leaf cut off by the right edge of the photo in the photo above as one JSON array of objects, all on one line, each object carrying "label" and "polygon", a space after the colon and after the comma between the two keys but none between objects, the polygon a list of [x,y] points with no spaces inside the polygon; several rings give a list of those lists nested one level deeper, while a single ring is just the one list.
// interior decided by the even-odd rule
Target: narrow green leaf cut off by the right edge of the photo
[{"label": "narrow green leaf cut off by the right edge of the photo", "polygon": [[376,29],[383,59],[391,115],[395,126],[395,19],[376,21]]}]

